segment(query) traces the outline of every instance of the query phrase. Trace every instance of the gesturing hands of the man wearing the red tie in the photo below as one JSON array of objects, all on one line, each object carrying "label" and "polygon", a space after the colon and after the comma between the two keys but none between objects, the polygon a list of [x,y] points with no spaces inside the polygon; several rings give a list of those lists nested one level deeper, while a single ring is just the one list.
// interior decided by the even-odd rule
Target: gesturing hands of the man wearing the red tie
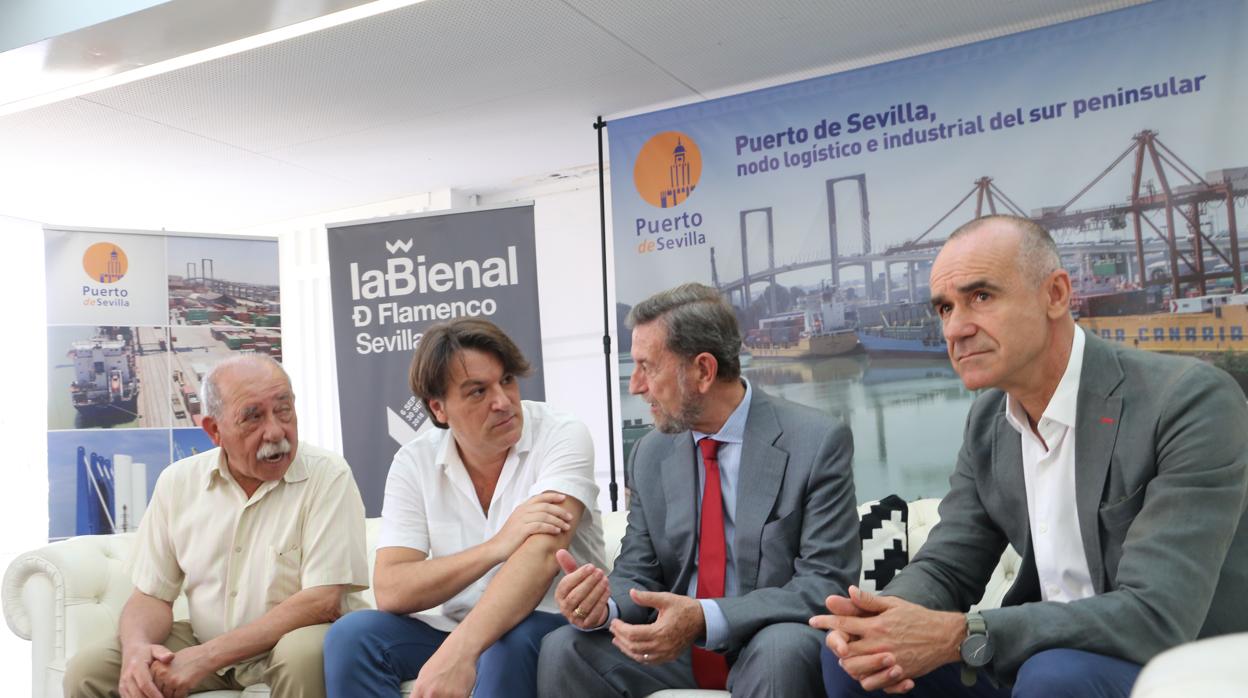
[{"label": "gesturing hands of the man wearing the red tie", "polygon": [[[568,551],[558,551],[554,557],[564,572],[554,591],[559,612],[578,628],[602,627],[610,614],[607,599],[612,594],[607,572],[589,563],[578,567]],[[608,628],[614,636],[612,643],[635,662],[671,662],[706,633],[706,619],[698,599],[640,589],[629,589],[629,596],[633,603],[659,612],[653,623],[633,624],[617,618]]]}]

